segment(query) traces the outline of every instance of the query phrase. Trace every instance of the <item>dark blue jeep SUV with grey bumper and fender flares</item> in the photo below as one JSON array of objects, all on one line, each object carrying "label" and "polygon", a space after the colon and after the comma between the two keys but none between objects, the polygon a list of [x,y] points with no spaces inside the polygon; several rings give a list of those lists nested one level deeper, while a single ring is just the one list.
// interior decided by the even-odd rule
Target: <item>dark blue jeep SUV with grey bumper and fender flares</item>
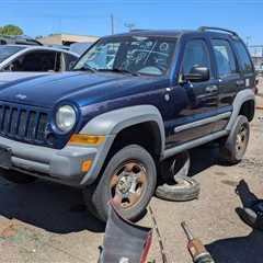
[{"label": "dark blue jeep SUV with grey bumper and fender flares", "polygon": [[220,141],[231,163],[245,152],[255,72],[231,31],[132,31],[102,37],[72,71],[1,85],[0,167],[82,187],[105,220],[116,197],[128,219],[148,205],[163,160]]}]

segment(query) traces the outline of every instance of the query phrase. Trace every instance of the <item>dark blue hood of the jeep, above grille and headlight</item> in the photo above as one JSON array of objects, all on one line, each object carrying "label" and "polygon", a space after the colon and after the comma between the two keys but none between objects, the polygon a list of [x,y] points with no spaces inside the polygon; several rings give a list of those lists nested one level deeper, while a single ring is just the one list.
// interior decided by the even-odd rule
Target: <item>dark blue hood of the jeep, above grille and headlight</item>
[{"label": "dark blue hood of the jeep, above grille and headlight", "polygon": [[149,90],[149,83],[152,84],[157,79],[82,71],[32,76],[1,84],[0,100],[45,107],[53,107],[60,102],[84,106],[134,94],[138,88],[141,91],[141,87]]}]

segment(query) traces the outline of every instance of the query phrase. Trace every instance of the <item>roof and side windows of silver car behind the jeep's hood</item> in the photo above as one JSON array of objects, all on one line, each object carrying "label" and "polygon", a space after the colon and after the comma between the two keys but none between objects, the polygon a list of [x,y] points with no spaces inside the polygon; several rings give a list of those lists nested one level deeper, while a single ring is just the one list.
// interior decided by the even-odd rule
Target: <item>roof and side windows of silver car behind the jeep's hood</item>
[{"label": "roof and side windows of silver car behind the jeep's hood", "polygon": [[78,54],[59,48],[37,45],[0,45],[0,71],[67,71],[78,58]]}]

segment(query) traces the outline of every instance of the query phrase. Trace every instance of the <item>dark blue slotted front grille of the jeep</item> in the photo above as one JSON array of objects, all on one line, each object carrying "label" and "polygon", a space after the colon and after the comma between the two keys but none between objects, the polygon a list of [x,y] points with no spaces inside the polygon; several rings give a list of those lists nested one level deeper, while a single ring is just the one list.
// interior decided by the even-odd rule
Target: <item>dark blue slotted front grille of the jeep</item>
[{"label": "dark blue slotted front grille of the jeep", "polygon": [[47,113],[0,105],[0,134],[20,140],[45,142]]}]

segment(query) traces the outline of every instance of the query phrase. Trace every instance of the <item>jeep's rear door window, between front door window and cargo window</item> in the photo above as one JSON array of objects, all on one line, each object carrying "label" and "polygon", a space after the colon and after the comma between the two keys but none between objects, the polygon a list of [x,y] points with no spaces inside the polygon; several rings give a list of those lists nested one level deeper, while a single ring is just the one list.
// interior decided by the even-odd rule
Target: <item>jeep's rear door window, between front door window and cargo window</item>
[{"label": "jeep's rear door window, between front door window and cargo window", "polygon": [[224,39],[211,39],[211,45],[219,77],[226,78],[237,73],[237,66],[230,44]]}]

